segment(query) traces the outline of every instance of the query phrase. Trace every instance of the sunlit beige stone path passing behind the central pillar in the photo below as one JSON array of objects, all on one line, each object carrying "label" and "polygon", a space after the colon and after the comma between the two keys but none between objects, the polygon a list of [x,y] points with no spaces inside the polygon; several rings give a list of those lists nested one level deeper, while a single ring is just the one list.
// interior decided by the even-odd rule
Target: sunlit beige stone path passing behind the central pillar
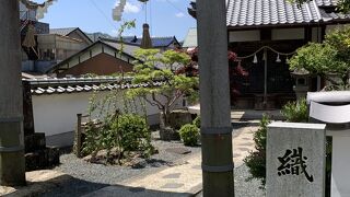
[{"label": "sunlit beige stone path passing behind the central pillar", "polygon": [[[257,126],[247,126],[235,130],[235,134],[233,135],[233,161],[235,167],[241,166],[243,164],[243,159],[248,155],[249,151],[254,150],[253,135],[257,128]],[[128,179],[118,183],[118,185],[138,188],[143,192],[156,190],[191,196],[201,190],[202,176],[200,164],[201,155],[192,155],[182,165],[168,167],[145,177]],[[109,186],[86,195],[86,197],[119,196],[119,194],[125,195],[125,193],[120,193],[120,187]]]}]

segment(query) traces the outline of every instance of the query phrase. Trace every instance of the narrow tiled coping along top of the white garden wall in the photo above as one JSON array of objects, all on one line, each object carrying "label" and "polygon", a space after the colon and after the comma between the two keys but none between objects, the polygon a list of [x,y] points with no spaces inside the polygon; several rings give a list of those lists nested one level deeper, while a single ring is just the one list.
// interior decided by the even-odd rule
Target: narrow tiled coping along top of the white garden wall
[{"label": "narrow tiled coping along top of the white garden wall", "polygon": [[63,94],[92,91],[113,91],[133,89],[139,86],[159,86],[162,82],[153,84],[131,84],[131,78],[102,77],[102,78],[49,78],[49,79],[22,79],[31,84],[33,95]]}]

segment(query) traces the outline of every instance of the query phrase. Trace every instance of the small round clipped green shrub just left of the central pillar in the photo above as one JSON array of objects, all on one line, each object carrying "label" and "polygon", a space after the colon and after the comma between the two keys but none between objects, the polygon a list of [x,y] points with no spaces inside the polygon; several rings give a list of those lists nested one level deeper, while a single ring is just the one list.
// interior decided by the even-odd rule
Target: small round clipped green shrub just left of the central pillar
[{"label": "small round clipped green shrub just left of the central pillar", "polygon": [[179,129],[179,136],[185,146],[195,147],[198,144],[199,128],[192,124],[186,124]]}]

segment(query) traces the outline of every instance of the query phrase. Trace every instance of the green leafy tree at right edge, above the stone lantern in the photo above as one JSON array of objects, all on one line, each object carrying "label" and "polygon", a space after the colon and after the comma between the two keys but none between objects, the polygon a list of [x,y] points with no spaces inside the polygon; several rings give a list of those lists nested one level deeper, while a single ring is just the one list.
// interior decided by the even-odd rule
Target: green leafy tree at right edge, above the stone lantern
[{"label": "green leafy tree at right edge, above the stone lantern", "polygon": [[[324,43],[310,43],[296,50],[289,60],[290,68],[305,69],[312,74],[324,77],[334,85],[345,88],[350,73],[350,27],[330,32]],[[336,74],[340,82],[329,74]]]}]

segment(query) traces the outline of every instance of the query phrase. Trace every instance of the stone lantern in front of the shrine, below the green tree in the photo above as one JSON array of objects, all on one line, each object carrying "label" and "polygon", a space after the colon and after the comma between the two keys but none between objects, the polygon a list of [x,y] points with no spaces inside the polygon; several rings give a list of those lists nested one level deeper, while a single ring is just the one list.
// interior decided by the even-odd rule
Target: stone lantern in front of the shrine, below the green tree
[{"label": "stone lantern in front of the shrine, below the green tree", "polygon": [[295,69],[291,72],[291,76],[295,79],[293,90],[296,94],[296,100],[300,101],[301,99],[305,99],[306,93],[310,91],[310,72],[305,69]]}]

